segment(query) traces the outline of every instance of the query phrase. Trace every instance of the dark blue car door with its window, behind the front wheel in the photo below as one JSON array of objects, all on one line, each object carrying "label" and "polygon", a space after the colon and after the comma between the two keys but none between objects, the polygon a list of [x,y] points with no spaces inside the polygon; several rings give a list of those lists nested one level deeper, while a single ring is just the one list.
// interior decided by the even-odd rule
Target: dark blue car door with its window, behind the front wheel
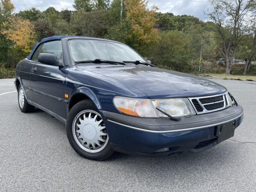
[{"label": "dark blue car door with its window, behind the front wheel", "polygon": [[61,41],[45,42],[38,47],[31,58],[34,66],[31,70],[30,84],[36,104],[66,119],[64,98],[66,67],[38,62],[40,53],[54,54],[60,60],[62,57]]}]

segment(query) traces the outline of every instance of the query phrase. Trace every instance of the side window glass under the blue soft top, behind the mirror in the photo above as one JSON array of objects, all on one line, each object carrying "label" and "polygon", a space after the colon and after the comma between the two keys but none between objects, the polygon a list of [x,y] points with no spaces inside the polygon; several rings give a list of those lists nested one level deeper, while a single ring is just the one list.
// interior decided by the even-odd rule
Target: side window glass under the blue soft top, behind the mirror
[{"label": "side window glass under the blue soft top, behind the mirror", "polygon": [[32,56],[32,60],[38,62],[38,55],[40,53],[50,53],[50,54],[54,54],[58,60],[60,60],[61,56],[62,56],[62,45],[61,45],[61,41],[50,41],[50,42],[46,42],[41,44],[40,46],[38,46],[38,48],[36,49],[36,51],[34,52],[33,56]]}]

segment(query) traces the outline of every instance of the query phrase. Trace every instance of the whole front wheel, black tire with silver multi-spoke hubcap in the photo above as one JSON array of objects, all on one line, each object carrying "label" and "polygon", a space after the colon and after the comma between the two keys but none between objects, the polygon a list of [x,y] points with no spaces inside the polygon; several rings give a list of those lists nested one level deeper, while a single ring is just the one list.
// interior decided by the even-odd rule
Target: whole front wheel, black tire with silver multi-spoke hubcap
[{"label": "whole front wheel, black tire with silver multi-spoke hubcap", "polygon": [[82,157],[105,160],[114,153],[98,108],[89,99],[78,102],[70,110],[66,134],[72,148]]}]

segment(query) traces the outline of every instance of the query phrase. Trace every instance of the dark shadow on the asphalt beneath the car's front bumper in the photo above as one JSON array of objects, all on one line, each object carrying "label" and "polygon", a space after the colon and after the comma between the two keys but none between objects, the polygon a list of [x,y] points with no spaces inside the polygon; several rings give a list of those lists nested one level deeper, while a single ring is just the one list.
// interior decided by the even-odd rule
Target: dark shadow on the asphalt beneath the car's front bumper
[{"label": "dark shadow on the asphalt beneath the car's front bumper", "polygon": [[[239,144],[235,144],[236,148]],[[238,146],[237,146],[238,145]],[[233,147],[232,147],[233,146]],[[187,168],[187,166],[218,166],[220,164],[233,163],[234,156],[234,144],[232,141],[224,141],[218,146],[214,146],[206,151],[199,153],[186,153],[178,154],[166,157],[138,157],[131,156],[122,153],[114,153],[113,156],[108,158],[106,162],[131,162],[132,166],[138,168],[157,168],[158,166],[166,166],[166,168],[173,168],[173,166],[179,166]],[[231,162],[230,162],[231,161]]]}]

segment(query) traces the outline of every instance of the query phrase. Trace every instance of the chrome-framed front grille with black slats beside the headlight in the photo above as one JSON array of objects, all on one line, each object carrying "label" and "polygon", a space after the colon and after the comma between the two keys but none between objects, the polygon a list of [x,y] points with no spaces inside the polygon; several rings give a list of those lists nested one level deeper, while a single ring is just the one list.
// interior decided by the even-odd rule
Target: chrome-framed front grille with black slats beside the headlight
[{"label": "chrome-framed front grille with black slats beside the headlight", "polygon": [[188,98],[193,104],[197,114],[214,112],[228,107],[226,94],[219,94],[205,97]]}]

